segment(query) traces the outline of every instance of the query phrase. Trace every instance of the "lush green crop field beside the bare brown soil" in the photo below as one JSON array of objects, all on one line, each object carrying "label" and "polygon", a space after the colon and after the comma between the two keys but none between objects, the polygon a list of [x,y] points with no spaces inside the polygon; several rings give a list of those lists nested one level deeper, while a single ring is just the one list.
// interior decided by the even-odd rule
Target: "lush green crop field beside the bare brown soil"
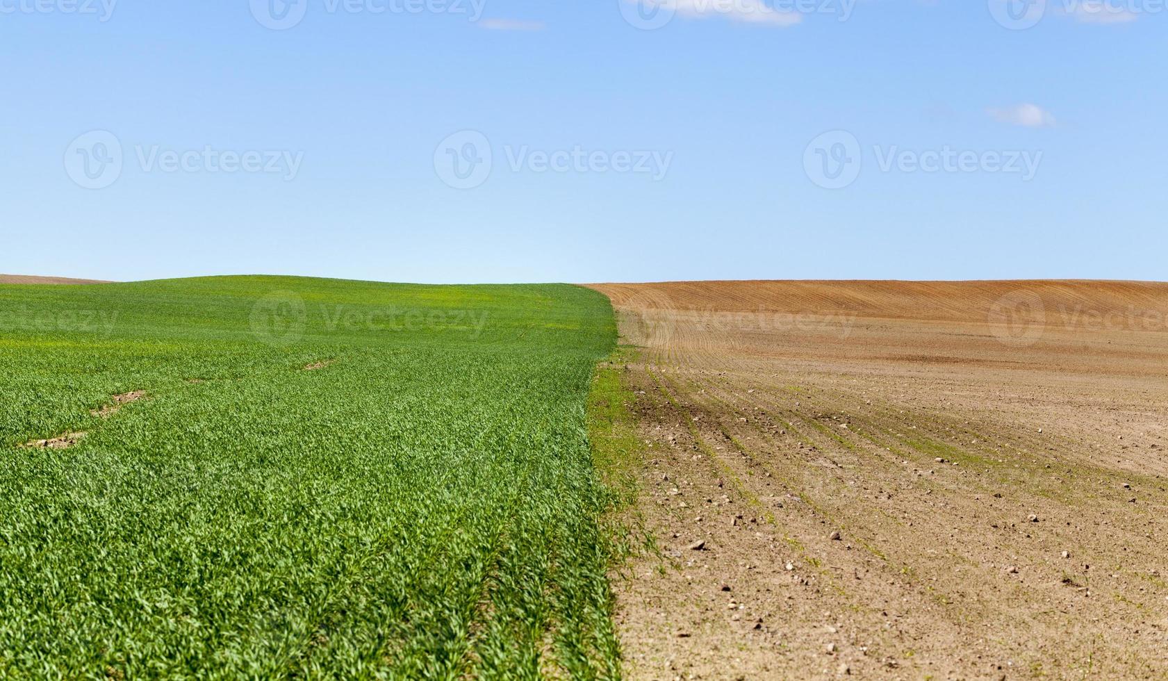
[{"label": "lush green crop field beside the bare brown soil", "polygon": [[0,676],[619,675],[614,338],[566,285],[0,286]]}]

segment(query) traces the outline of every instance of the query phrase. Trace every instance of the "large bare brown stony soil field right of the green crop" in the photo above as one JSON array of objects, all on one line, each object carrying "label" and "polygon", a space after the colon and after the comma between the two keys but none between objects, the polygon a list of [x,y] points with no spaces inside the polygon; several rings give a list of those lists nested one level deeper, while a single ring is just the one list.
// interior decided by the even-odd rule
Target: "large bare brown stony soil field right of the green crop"
[{"label": "large bare brown stony soil field right of the green crop", "polygon": [[1168,285],[595,287],[645,347],[630,677],[1168,675]]}]

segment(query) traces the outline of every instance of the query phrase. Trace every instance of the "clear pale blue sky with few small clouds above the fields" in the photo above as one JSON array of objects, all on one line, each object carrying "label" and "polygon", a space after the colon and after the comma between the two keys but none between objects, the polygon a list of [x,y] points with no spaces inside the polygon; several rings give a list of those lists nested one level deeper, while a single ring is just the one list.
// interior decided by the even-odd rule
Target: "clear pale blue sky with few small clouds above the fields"
[{"label": "clear pale blue sky with few small clouds above the fields", "polygon": [[0,0],[0,271],[1168,278],[1157,0],[300,1]]}]

